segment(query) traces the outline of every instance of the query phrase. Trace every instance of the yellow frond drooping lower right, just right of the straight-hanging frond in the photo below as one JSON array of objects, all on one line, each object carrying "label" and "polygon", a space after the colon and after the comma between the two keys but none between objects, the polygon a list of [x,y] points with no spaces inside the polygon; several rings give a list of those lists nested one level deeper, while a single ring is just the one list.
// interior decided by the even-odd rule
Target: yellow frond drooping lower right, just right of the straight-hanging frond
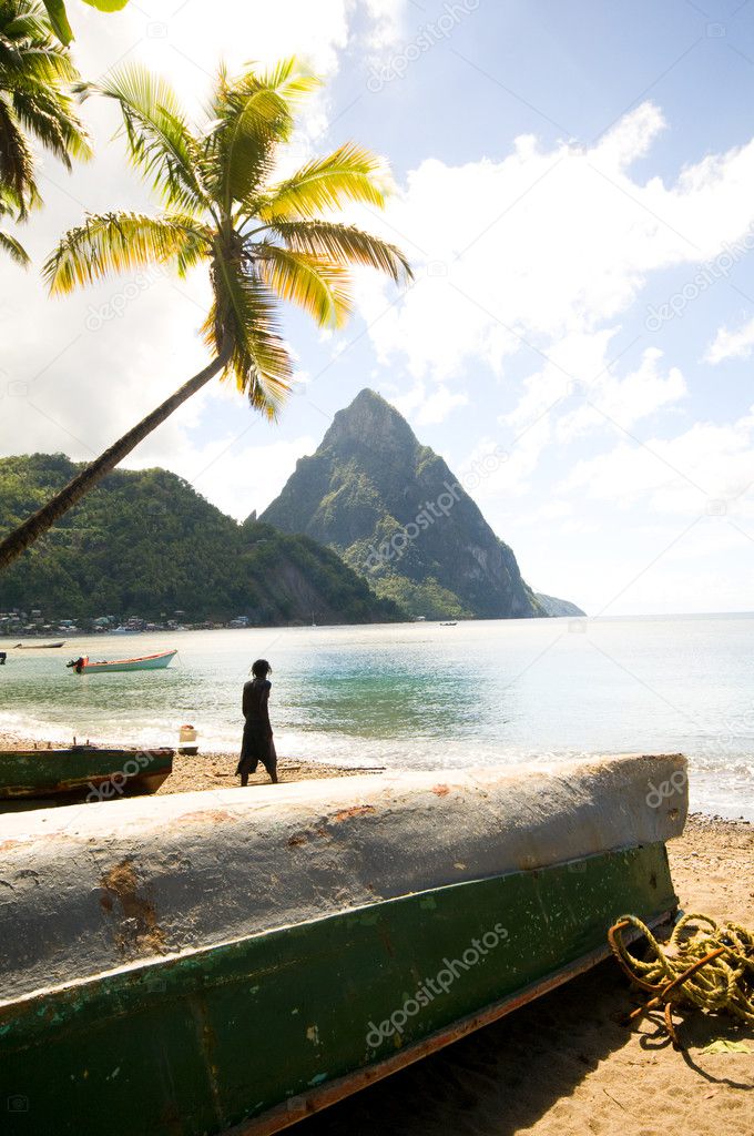
[{"label": "yellow frond drooping lower right, just right of the straight-hanging frond", "polygon": [[320,327],[342,327],[351,311],[349,274],[332,260],[275,244],[253,245],[262,281],[282,300],[295,303]]}]

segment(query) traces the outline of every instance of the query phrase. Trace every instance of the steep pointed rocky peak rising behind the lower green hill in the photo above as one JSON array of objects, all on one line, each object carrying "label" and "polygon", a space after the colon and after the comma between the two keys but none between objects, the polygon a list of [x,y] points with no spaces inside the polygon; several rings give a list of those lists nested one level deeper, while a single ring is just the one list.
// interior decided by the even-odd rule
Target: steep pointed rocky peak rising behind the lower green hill
[{"label": "steep pointed rocky peak rising behind the lower green hill", "polygon": [[262,520],[328,544],[413,616],[545,615],[443,459],[374,391],[335,415]]}]

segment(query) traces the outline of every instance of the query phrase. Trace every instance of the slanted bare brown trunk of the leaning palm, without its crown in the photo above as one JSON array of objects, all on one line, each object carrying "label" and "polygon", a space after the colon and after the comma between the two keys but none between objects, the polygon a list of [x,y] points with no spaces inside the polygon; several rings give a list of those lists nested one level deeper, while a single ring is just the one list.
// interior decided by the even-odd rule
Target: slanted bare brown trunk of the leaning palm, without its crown
[{"label": "slanted bare brown trunk of the leaning palm, without its crown", "polygon": [[209,383],[210,378],[219,374],[227,364],[229,354],[231,348],[227,346],[208,367],[204,367],[198,375],[194,375],[187,383],[184,383],[157,410],[152,410],[146,418],[142,418],[133,429],[129,429],[127,434],[118,438],[109,450],[106,450],[95,461],[86,466],[81,474],[77,474],[72,482],[68,482],[66,487],[56,493],[45,506],[0,541],[0,570],[19,557],[22,552],[25,552],[57,520],[60,520],[77,501],[81,501],[106,474],[115,469],[148,434],[151,434],[166,418],[169,418],[173,411],[177,410],[186,399],[190,399],[192,394],[195,394],[196,391],[200,391],[202,386]]}]

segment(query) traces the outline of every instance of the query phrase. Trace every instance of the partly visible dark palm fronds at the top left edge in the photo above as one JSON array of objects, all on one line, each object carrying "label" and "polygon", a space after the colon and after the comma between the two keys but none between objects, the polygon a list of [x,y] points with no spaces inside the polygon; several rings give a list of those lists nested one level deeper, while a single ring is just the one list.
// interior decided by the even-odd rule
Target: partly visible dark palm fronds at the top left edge
[{"label": "partly visible dark palm fronds at the top left edge", "polygon": [[[37,0],[0,0],[0,219],[25,220],[41,203],[32,139],[68,169],[91,153],[76,116],[72,84],[79,78],[52,36]],[[22,245],[0,231],[0,249],[22,265]]]}]

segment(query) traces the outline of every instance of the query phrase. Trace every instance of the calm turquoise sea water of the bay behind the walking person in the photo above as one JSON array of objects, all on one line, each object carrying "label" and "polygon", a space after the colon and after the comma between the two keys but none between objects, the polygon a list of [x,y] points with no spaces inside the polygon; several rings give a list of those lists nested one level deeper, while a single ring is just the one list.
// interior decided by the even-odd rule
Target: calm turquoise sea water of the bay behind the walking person
[{"label": "calm turquoise sea water of the bay behind the walking person", "polygon": [[[69,658],[177,646],[168,670],[79,676]],[[754,616],[501,620],[97,636],[9,651],[0,728],[235,750],[254,658],[285,757],[427,768],[681,751],[695,808],[754,820]]]}]

